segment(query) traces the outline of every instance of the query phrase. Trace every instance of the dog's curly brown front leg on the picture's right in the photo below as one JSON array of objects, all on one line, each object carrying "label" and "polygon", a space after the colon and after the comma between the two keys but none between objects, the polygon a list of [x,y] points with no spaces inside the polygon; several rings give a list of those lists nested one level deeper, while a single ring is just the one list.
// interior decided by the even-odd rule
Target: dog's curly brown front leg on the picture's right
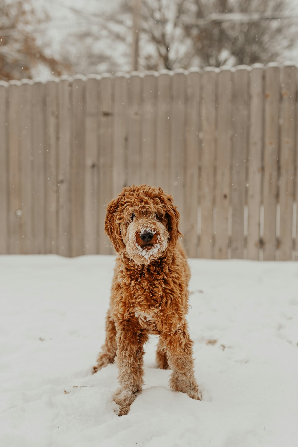
[{"label": "dog's curly brown front leg on the picture's right", "polygon": [[189,337],[187,324],[183,323],[176,331],[161,336],[169,367],[173,370],[170,386],[175,391],[185,392],[192,399],[201,400],[193,371],[193,342]]}]

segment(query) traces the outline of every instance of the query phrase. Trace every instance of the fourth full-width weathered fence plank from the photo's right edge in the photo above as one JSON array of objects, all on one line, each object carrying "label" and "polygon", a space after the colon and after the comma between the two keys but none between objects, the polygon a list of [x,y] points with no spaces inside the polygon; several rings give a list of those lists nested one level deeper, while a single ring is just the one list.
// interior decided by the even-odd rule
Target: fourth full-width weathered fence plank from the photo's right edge
[{"label": "fourth full-width weathered fence plank from the photo's right edge", "polygon": [[243,258],[245,168],[248,143],[248,70],[234,73],[234,136],[232,149],[232,238],[231,257]]}]

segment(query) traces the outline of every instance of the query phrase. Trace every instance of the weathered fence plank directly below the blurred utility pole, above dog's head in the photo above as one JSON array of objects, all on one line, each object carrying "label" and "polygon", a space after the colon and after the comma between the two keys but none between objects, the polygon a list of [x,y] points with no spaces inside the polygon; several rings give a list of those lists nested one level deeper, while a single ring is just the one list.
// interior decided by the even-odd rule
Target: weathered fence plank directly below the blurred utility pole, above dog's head
[{"label": "weathered fence plank directly below the blurred utility pole, above dog's head", "polygon": [[128,80],[128,148],[127,148],[127,184],[140,185],[143,181],[142,148],[142,94],[143,76],[133,72]]}]

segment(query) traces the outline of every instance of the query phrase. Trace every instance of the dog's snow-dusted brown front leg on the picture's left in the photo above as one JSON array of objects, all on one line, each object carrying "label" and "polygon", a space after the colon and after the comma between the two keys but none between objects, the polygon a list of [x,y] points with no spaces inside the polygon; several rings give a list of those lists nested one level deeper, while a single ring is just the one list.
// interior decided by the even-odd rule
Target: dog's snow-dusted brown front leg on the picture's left
[{"label": "dog's snow-dusted brown front leg on the picture's left", "polygon": [[148,340],[146,333],[136,330],[134,325],[123,325],[117,328],[118,381],[120,388],[115,392],[113,400],[118,404],[118,416],[127,414],[130,405],[142,391],[143,385],[143,345]]}]

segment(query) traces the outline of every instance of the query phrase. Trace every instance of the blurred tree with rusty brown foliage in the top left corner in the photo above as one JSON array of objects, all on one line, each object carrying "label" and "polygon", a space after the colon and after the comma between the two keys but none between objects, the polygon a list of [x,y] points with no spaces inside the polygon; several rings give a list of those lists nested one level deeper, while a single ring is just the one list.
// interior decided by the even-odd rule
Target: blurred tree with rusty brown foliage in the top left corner
[{"label": "blurred tree with rusty brown foliage in the top left corner", "polygon": [[55,75],[61,74],[63,64],[46,55],[32,33],[41,20],[31,0],[0,2],[0,80],[31,78],[38,64],[49,67]]}]

